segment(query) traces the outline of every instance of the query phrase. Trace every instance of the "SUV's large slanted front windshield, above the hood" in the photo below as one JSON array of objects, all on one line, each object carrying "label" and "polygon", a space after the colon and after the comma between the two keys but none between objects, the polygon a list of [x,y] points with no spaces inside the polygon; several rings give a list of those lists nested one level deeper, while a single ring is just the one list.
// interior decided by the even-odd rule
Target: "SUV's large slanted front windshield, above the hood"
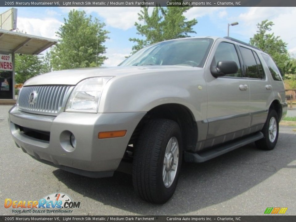
[{"label": "SUV's large slanted front windshield, above the hood", "polygon": [[119,66],[185,65],[203,67],[213,39],[178,39],[141,49]]}]

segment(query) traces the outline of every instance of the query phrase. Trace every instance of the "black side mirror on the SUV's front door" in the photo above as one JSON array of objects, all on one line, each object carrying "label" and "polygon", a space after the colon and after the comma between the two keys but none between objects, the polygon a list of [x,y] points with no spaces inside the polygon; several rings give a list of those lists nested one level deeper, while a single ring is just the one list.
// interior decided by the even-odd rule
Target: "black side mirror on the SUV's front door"
[{"label": "black side mirror on the SUV's front door", "polygon": [[211,67],[212,76],[216,78],[227,74],[233,74],[237,71],[238,67],[235,61],[219,61],[216,67]]}]

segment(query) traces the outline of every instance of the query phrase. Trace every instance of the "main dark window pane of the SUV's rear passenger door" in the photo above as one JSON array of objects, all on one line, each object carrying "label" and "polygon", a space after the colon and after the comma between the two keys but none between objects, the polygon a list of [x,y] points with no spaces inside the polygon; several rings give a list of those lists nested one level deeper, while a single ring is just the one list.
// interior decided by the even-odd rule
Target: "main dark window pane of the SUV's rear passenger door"
[{"label": "main dark window pane of the SUV's rear passenger door", "polygon": [[245,65],[244,67],[245,77],[261,79],[258,66],[252,50],[245,47],[241,47],[241,46],[240,46],[240,50],[241,50],[241,57],[243,58],[244,65]]}]

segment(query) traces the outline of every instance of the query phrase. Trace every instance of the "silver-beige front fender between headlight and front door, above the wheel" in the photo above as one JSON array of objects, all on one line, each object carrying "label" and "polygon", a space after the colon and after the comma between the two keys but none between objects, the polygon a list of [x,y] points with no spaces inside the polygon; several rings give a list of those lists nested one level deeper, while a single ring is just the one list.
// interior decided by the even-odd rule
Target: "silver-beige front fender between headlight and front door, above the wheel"
[{"label": "silver-beige front fender between headlight and front door, above the wheel", "polygon": [[169,103],[188,107],[196,121],[206,118],[204,70],[186,67],[116,76],[109,80],[102,92],[99,113],[148,112]]}]

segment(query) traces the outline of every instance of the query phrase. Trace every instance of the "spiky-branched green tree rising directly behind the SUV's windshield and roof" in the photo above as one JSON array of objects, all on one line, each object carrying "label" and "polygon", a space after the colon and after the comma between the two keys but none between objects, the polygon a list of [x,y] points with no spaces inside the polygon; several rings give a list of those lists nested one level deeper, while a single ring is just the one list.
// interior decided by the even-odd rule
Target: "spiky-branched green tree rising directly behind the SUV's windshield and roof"
[{"label": "spiky-branched green tree rising directly behind the SUV's windshield and roof", "polygon": [[135,23],[137,34],[141,35],[142,39],[129,39],[137,43],[133,46],[132,53],[153,43],[190,37],[188,34],[196,33],[192,27],[197,24],[197,20],[187,21],[183,15],[190,8],[192,7],[154,7],[152,14],[149,15],[148,7],[142,7],[142,10],[138,13],[139,23]]}]

